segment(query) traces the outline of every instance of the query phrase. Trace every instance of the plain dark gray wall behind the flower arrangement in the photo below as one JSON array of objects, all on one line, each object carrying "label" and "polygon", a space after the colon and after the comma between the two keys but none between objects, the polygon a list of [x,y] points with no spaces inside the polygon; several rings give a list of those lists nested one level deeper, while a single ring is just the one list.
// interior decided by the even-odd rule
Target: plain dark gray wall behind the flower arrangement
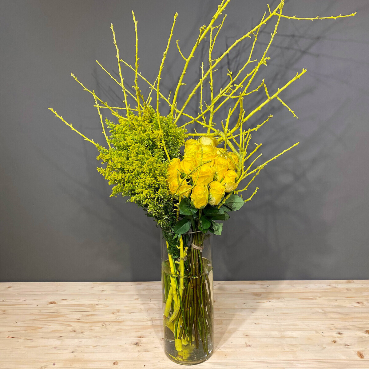
[{"label": "plain dark gray wall behind the flower arrangement", "polygon": [[[266,3],[232,1],[219,47],[250,29]],[[119,104],[119,89],[95,62],[117,71],[110,23],[122,57],[133,63],[134,9],[140,69],[153,80],[175,11],[173,39],[180,39],[188,54],[198,27],[216,6],[214,0],[1,1],[0,281],[160,279],[155,223],[135,204],[109,197],[110,188],[96,171],[94,146],[48,107],[103,142],[93,100],[70,72]],[[253,141],[263,142],[265,158],[301,144],[264,169],[253,183],[258,194],[213,238],[215,279],[369,278],[369,4],[295,0],[287,1],[284,11],[315,16],[355,10],[354,18],[343,20],[282,21],[268,68],[257,82],[265,77],[269,91],[275,91],[307,68],[282,95],[299,120],[271,104],[251,122],[274,115]],[[271,31],[263,30],[261,47]],[[245,51],[238,48],[222,65],[220,81]],[[173,88],[183,66],[177,54],[173,47],[163,89]],[[201,49],[187,83],[198,79],[200,57]],[[132,81],[132,73],[124,73]],[[187,93],[184,87],[183,96]],[[247,104],[251,108],[260,99],[262,94]]]}]

